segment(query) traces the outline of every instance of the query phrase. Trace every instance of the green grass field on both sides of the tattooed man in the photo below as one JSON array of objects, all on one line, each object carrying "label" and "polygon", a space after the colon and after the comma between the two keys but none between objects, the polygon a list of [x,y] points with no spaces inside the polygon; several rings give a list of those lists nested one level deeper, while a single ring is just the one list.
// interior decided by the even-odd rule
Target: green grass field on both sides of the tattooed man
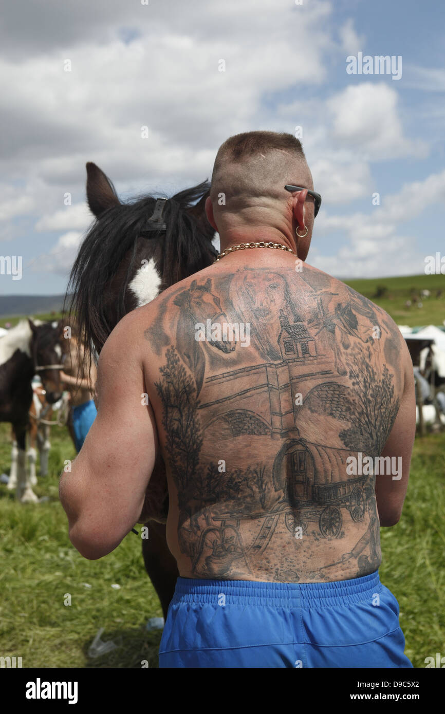
[{"label": "green grass field on both sides of the tattooed man", "polygon": [[[9,472],[9,427],[0,424],[0,472]],[[148,633],[161,616],[146,576],[141,541],[130,533],[119,548],[89,561],[69,543],[58,500],[58,478],[74,448],[55,427],[50,475],[36,493],[49,501],[22,506],[0,486],[0,655],[23,658],[24,667],[139,668],[157,666],[161,633]],[[445,654],[445,433],[416,438],[401,521],[381,529],[381,580],[400,604],[406,654],[415,667]],[[86,588],[84,583],[91,585]],[[117,583],[119,590],[111,588]],[[71,605],[64,605],[66,593]],[[119,648],[90,659],[99,628]]]}]

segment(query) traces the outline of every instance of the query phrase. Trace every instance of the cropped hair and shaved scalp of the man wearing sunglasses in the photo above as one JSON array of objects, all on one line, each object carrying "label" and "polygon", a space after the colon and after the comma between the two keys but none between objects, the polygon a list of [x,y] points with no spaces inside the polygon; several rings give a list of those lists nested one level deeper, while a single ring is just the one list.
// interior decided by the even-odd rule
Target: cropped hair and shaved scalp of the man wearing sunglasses
[{"label": "cropped hair and shaved scalp of the man wearing sunglasses", "polygon": [[216,154],[210,191],[214,212],[227,216],[257,206],[273,208],[289,200],[285,183],[312,188],[311,172],[298,139],[274,131],[231,136]]}]

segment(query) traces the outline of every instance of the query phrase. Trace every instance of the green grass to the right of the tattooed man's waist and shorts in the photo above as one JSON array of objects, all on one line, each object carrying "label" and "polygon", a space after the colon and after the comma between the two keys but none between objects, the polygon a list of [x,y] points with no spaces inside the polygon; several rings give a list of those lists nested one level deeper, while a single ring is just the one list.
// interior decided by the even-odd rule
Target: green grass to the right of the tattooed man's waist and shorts
[{"label": "green grass to the right of the tattooed man's waist and shorts", "polygon": [[381,581],[400,605],[414,667],[445,655],[445,433],[416,438],[399,523],[381,528]]}]

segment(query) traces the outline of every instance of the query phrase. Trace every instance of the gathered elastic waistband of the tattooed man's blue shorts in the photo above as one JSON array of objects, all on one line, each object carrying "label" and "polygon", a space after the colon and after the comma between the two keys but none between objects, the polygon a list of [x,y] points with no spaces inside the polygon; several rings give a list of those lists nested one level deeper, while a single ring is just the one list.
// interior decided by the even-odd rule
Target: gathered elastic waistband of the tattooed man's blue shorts
[{"label": "gathered elastic waistband of the tattooed man's blue shorts", "polygon": [[[331,583],[263,583],[256,580],[198,580],[178,578],[171,604],[271,605],[273,607],[324,607],[369,602],[381,593],[379,570],[353,580]],[[223,598],[224,596],[224,598]]]}]

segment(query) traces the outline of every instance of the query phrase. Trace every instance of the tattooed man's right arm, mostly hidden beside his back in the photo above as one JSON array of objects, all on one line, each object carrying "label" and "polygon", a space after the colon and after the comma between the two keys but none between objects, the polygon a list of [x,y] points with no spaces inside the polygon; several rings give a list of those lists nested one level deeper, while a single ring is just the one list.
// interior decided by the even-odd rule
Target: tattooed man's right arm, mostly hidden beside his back
[{"label": "tattooed man's right arm, mostly hidden beside his back", "polygon": [[[414,372],[406,343],[403,340],[401,353],[404,365],[404,392],[401,397],[399,413],[391,429],[381,456],[401,456],[401,478],[393,481],[389,474],[376,476],[376,502],[381,526],[394,526],[400,520],[408,488],[411,454],[416,434],[416,395],[414,391]],[[396,462],[397,463],[397,462]]]}]

